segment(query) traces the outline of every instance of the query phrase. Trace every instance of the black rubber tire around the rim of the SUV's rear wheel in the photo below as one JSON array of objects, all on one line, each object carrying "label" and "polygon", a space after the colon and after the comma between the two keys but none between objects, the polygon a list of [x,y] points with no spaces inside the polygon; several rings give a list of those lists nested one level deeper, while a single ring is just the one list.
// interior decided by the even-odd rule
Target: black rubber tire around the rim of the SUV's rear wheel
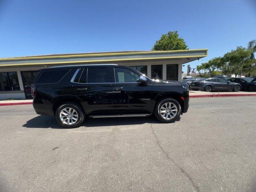
[{"label": "black rubber tire around the rim of the SUV's rear wheel", "polygon": [[[76,122],[74,122],[74,124],[66,124],[63,123],[61,118],[60,118],[60,112],[65,109],[65,108],[71,108],[73,110],[71,110],[71,112],[76,112],[75,116],[77,116],[77,120]],[[71,113],[70,113],[71,114]],[[63,115],[63,113],[62,113]],[[64,128],[76,128],[78,126],[80,126],[82,124],[82,122],[84,122],[84,118],[85,118],[85,114],[84,114],[84,110],[82,109],[82,107],[80,105],[78,105],[77,103],[73,103],[73,102],[68,102],[68,103],[64,103],[61,104],[57,110],[56,110],[56,114],[55,114],[56,120],[57,122]],[[62,116],[65,117],[65,116]],[[73,116],[72,116],[73,117]],[[72,117],[68,117],[70,119],[72,119]],[[66,120],[67,117],[65,117]],[[68,120],[67,120],[68,122]],[[72,122],[73,123],[73,122]]]}]

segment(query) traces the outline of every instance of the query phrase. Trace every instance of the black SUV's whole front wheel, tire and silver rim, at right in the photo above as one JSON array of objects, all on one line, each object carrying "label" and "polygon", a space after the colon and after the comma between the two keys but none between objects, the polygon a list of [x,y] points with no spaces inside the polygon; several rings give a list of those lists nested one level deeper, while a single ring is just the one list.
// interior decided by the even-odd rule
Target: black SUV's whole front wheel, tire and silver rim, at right
[{"label": "black SUV's whole front wheel, tire and silver rim, at right", "polygon": [[164,123],[174,122],[181,113],[180,103],[175,99],[164,98],[160,100],[154,109],[155,117]]}]

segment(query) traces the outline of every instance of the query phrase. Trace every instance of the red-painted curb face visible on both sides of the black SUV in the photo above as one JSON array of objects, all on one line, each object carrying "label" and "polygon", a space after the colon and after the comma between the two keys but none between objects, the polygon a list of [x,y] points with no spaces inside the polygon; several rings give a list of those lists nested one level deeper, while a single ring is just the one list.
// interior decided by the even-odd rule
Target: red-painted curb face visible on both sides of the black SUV
[{"label": "red-painted curb face visible on both sides of the black SUV", "polygon": [[[237,96],[256,96],[256,94],[212,94],[212,95],[190,95],[189,98],[200,98],[200,97],[237,97]],[[9,105],[27,105],[33,104],[33,102],[17,102],[17,103],[0,103],[0,106]]]}]

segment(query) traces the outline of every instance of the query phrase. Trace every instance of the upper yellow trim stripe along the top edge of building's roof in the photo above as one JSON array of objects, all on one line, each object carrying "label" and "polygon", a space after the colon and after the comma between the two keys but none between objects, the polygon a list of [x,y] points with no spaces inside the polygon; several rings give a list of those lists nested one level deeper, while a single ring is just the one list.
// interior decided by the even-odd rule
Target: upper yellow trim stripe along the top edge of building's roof
[{"label": "upper yellow trim stripe along the top edge of building's roof", "polygon": [[172,53],[172,52],[188,52],[188,51],[206,51],[208,49],[189,49],[189,50],[173,50],[173,51],[143,51],[143,52],[125,52],[125,53],[98,53],[98,54],[79,54],[79,55],[60,55],[60,56],[31,56],[31,57],[15,57],[15,58],[0,58],[0,60],[24,60],[24,59],[44,59],[44,58],[69,58],[83,56],[109,56],[109,55],[132,55],[132,54],[150,54],[150,53]]}]

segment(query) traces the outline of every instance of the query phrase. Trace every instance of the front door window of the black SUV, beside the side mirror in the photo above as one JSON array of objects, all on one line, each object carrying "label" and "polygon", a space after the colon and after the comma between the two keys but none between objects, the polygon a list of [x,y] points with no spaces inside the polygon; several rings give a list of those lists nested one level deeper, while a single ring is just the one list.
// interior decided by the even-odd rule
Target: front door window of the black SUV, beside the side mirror
[{"label": "front door window of the black SUV, beside the side mirror", "polygon": [[140,79],[140,76],[134,73],[132,70],[126,68],[114,68],[115,70],[115,80],[117,83],[127,82],[134,83]]}]

